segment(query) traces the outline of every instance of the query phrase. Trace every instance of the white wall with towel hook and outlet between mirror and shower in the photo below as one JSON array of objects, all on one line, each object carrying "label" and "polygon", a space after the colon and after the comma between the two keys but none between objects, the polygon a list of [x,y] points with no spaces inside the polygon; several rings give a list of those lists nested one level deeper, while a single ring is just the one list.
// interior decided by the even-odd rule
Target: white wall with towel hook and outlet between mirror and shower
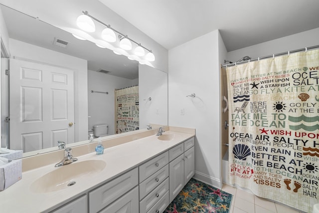
[{"label": "white wall with towel hook and outlet between mirror and shower", "polygon": [[168,94],[169,125],[196,128],[195,178],[221,187],[218,39],[215,30],[168,51]]}]

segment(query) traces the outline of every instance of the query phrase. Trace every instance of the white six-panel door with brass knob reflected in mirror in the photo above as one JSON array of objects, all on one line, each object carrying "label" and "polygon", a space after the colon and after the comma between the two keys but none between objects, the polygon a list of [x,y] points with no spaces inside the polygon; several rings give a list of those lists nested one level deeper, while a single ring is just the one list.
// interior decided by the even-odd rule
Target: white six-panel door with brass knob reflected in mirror
[{"label": "white six-panel door with brass knob reflected in mirror", "polygon": [[10,59],[10,149],[74,142],[73,78],[73,70]]}]

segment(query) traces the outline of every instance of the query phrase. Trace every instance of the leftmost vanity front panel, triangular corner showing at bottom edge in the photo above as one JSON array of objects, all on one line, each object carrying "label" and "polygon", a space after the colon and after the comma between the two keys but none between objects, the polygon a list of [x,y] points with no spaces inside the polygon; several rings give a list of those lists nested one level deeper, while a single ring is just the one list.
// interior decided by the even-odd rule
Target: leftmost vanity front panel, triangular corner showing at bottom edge
[{"label": "leftmost vanity front panel, triangular corner showing at bottom edge", "polygon": [[84,195],[65,206],[52,211],[51,213],[87,213],[88,212],[88,202],[87,196]]}]

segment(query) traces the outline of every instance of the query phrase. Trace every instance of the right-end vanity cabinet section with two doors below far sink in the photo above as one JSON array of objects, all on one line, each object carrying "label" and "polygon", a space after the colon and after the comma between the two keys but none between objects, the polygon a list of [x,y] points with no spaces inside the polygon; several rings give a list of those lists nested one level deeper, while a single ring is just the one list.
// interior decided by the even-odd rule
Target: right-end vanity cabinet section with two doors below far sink
[{"label": "right-end vanity cabinet section with two doors below far sink", "polygon": [[183,152],[179,153],[178,157],[169,159],[169,203],[174,200],[195,174],[194,138],[190,138],[170,150],[181,150],[180,145],[182,145]]}]

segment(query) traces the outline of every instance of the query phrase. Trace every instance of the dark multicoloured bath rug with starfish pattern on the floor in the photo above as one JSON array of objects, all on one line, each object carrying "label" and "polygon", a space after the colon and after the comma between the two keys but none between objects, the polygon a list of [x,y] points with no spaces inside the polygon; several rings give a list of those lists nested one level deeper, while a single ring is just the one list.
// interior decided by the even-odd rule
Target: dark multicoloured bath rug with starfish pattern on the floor
[{"label": "dark multicoloured bath rug with starfish pattern on the floor", "polygon": [[232,195],[191,179],[164,213],[229,213]]}]

